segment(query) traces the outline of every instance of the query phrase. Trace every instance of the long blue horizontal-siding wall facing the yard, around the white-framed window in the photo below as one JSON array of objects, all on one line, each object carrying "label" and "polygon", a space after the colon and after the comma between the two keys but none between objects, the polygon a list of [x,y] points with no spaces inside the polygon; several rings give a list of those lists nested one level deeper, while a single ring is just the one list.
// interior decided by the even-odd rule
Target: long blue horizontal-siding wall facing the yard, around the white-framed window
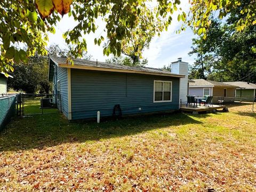
[{"label": "long blue horizontal-siding wall facing the yard, around the white-framed window", "polygon": [[[153,102],[154,80],[172,81],[172,102]],[[71,69],[72,119],[179,109],[179,78]],[[141,110],[139,110],[141,108]]]}]

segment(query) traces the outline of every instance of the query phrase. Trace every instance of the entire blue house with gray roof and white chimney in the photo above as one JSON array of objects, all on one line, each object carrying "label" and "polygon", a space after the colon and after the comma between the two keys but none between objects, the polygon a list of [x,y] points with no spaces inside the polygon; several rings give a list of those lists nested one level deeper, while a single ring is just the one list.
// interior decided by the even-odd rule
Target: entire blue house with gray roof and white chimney
[{"label": "entire blue house with gray roof and white chimney", "polygon": [[[172,66],[179,68],[181,63],[185,62]],[[49,62],[49,81],[57,94],[53,100],[69,120],[95,118],[97,111],[107,117],[120,111],[130,115],[178,110],[180,79],[185,77],[167,70],[89,60],[74,59],[70,65],[66,58],[51,57]]]}]

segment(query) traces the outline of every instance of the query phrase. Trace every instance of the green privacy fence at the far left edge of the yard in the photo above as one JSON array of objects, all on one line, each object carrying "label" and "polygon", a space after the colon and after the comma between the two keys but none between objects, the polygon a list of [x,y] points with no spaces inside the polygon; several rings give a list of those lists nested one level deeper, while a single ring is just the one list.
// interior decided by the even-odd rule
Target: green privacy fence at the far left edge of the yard
[{"label": "green privacy fence at the far left edge of the yard", "polygon": [[10,122],[11,117],[15,115],[16,96],[10,95],[0,97],[0,131]]}]

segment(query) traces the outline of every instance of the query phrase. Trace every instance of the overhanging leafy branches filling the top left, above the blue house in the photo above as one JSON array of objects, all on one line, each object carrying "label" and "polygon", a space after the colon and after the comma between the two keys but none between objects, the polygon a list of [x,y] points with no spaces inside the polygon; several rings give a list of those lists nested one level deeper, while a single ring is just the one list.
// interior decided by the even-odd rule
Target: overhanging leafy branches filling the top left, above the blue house
[{"label": "overhanging leafy branches filling the top left, above the blue house", "polygon": [[[82,57],[87,51],[84,34],[97,30],[96,19],[101,18],[106,23],[108,42],[103,53],[120,56],[122,41],[125,38],[139,39],[149,33],[147,26],[152,26],[152,20],[142,20],[147,15],[161,19],[161,25],[153,34],[162,31],[170,25],[172,13],[178,10],[179,0],[156,1],[154,9],[148,1],[82,1],[82,0],[4,0],[0,2],[0,71],[12,71],[13,63],[28,62],[29,57],[36,52],[46,55],[47,33],[55,33],[55,26],[63,14],[68,13],[77,25],[63,34],[66,43],[72,46],[71,55]],[[70,5],[71,9],[70,9]],[[58,14],[59,13],[59,14]],[[146,13],[146,14],[145,14]],[[151,16],[150,16],[151,17]],[[185,21],[186,14],[180,11],[178,19]],[[143,23],[142,23],[143,22]],[[141,24],[146,31],[141,31]],[[137,33],[138,32],[138,33]],[[150,35],[150,36],[151,36]],[[95,38],[98,45],[104,37]],[[23,45],[27,46],[24,49]],[[132,46],[132,45],[131,45]],[[128,49],[126,47],[125,49]],[[140,55],[140,50],[134,55]],[[130,53],[129,53],[130,54]],[[72,61],[70,60],[72,63]]]}]

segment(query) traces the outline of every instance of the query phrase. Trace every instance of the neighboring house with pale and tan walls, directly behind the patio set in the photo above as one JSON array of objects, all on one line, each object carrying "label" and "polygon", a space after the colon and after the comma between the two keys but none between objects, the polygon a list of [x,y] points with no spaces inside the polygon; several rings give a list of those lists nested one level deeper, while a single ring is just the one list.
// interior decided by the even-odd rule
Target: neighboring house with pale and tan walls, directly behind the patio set
[{"label": "neighboring house with pale and tan walls, directly behind the patio set", "polygon": [[189,82],[189,95],[198,97],[211,95],[213,96],[213,103],[218,102],[218,97],[224,97],[226,102],[234,101],[235,90],[238,86],[205,79],[193,79],[193,81]]}]

